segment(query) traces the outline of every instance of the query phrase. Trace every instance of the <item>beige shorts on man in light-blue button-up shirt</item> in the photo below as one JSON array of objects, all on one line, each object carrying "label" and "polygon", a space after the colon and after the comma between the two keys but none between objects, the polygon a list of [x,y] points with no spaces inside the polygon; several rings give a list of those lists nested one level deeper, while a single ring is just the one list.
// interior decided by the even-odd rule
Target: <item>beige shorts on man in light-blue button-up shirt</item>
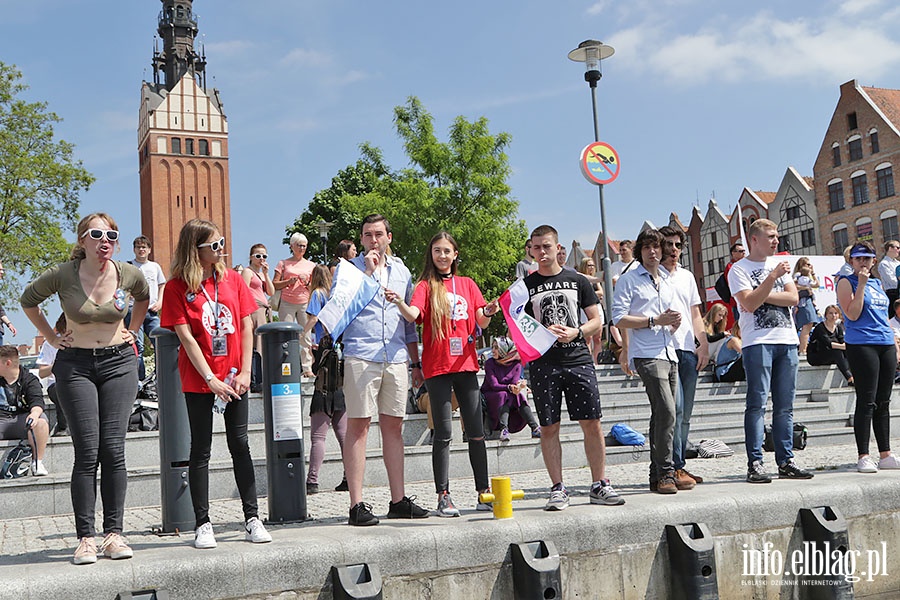
[{"label": "beige shorts on man in light-blue button-up shirt", "polygon": [[344,359],[347,417],[365,419],[379,414],[403,418],[408,394],[406,363],[376,363],[350,356]]}]

